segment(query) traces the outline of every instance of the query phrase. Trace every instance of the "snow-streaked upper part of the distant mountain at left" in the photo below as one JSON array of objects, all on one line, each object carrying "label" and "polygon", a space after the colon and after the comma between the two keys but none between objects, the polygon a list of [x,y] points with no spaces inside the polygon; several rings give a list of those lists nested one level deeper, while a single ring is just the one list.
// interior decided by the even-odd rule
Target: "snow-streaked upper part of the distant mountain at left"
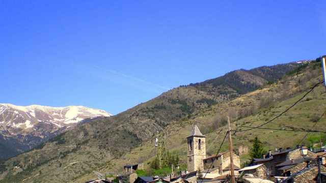
[{"label": "snow-streaked upper part of the distant mountain at left", "polygon": [[104,110],[85,106],[49,107],[0,104],[0,126],[20,129],[31,129],[39,123],[62,128],[71,124],[77,124],[86,118],[111,115]]}]

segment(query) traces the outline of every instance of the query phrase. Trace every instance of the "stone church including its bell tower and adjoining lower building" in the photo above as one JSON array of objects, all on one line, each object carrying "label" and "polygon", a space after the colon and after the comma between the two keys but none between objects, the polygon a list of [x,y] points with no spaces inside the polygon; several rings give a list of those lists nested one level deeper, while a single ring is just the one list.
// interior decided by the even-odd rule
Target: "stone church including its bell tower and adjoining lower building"
[{"label": "stone church including its bell tower and adjoining lower building", "polygon": [[[206,136],[203,135],[199,128],[195,125],[192,133],[187,137],[188,153],[187,153],[187,170],[194,172],[205,170],[212,165],[211,168],[216,169],[216,173],[220,175],[228,174],[230,167],[229,152],[220,153],[219,155],[206,157]],[[240,157],[233,153],[234,169],[240,167]]]}]

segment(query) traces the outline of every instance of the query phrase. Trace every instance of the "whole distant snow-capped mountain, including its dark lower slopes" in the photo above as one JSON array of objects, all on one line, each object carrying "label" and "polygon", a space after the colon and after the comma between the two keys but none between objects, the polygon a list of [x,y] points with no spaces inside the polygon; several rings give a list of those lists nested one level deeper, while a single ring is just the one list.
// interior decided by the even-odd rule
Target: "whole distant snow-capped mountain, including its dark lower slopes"
[{"label": "whole distant snow-capped mountain, including its dark lower slopes", "polygon": [[29,150],[49,138],[72,129],[86,118],[111,115],[104,110],[84,106],[0,104],[0,159]]}]

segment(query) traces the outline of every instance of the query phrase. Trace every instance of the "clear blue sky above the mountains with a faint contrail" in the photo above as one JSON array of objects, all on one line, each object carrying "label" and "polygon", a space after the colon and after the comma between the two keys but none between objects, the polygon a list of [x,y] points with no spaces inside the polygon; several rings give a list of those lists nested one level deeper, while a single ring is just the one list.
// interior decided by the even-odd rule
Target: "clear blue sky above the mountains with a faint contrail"
[{"label": "clear blue sky above the mountains with a faint contrail", "polygon": [[0,0],[0,103],[117,114],[179,85],[326,54],[325,1],[284,2]]}]

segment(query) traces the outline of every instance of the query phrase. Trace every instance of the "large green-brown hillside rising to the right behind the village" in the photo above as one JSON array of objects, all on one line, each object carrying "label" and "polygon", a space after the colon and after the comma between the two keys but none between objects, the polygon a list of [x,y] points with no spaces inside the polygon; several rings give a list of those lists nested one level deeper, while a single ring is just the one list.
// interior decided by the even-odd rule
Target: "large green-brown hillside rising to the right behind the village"
[{"label": "large green-brown hillside rising to the right behind the village", "polygon": [[[242,84],[204,82],[172,89],[118,115],[80,125],[28,153],[6,161],[0,165],[0,182],[82,182],[94,177],[93,170],[115,173],[126,163],[146,162],[149,157],[154,157],[153,137],[156,131],[162,130],[168,134],[169,149],[177,151],[185,161],[184,139],[194,124],[198,124],[207,134],[208,153],[213,154],[225,134],[223,126],[227,114],[235,121],[233,128],[241,124],[263,123],[317,82],[321,75],[319,65],[315,62],[305,66],[288,65],[292,67],[291,74],[285,75],[284,72],[283,78],[275,83],[271,82],[278,78],[270,79],[270,74],[263,78],[263,74],[258,76],[241,70],[236,72],[235,80],[240,80]],[[269,73],[265,71],[270,70],[268,67],[263,68],[256,73]],[[233,74],[226,76],[230,77],[230,81],[234,78]],[[319,86],[308,96],[310,99],[305,101],[307,103],[302,102],[293,108],[291,117],[282,116],[270,126],[311,127],[315,123],[311,118],[323,110],[322,89]],[[229,92],[221,94],[223,90]],[[242,94],[251,90],[255,91]],[[313,105],[316,101],[320,105]],[[304,106],[310,108],[304,110]],[[319,121],[316,128],[322,123],[323,120]],[[253,130],[236,134],[234,145],[250,145],[250,140],[256,135],[268,146],[276,147],[293,146],[295,140],[304,134]]]}]

